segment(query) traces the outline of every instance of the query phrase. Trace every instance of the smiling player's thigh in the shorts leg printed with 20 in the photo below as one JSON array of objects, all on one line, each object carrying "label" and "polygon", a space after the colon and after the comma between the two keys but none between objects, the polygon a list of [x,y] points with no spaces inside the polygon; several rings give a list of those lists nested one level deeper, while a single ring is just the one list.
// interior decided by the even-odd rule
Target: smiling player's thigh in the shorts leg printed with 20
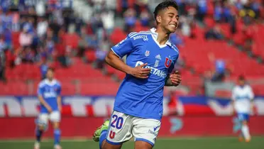
[{"label": "smiling player's thigh in the shorts leg printed with 20", "polygon": [[132,118],[133,116],[114,111],[111,115],[106,142],[118,148],[122,143],[130,140],[132,138]]}]

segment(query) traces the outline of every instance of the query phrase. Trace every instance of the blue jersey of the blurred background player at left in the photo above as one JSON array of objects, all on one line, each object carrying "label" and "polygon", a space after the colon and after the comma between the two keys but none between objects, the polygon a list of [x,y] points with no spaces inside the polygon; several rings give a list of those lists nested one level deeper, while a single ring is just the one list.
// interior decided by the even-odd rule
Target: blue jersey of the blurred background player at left
[{"label": "blue jersey of the blurred background player at left", "polygon": [[[58,111],[57,96],[60,96],[60,83],[53,79],[50,82],[48,79],[44,79],[38,85],[38,96],[43,96],[43,99],[50,105],[53,111]],[[40,113],[48,113],[48,109],[42,104],[40,105]]]}]

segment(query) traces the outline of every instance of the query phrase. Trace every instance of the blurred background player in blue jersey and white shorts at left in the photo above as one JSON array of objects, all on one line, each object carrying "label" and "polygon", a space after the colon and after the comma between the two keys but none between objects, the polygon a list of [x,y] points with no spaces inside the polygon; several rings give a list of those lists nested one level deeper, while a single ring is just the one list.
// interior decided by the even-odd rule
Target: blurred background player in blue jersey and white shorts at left
[{"label": "blurred background player in blue jersey and white shorts at left", "polygon": [[48,120],[53,124],[54,148],[60,149],[60,111],[62,102],[60,96],[60,83],[53,77],[54,71],[49,68],[46,79],[38,85],[38,99],[40,101],[40,114],[38,116],[37,128],[35,132],[34,149],[40,148],[40,138],[48,127]]}]

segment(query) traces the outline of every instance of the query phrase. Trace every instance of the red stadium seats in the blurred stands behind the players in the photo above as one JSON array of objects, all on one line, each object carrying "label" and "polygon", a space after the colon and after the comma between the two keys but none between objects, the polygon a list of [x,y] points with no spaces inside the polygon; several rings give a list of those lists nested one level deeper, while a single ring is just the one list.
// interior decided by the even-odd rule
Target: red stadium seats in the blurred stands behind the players
[{"label": "red stadium seats in the blurred stands behind the players", "polygon": [[[258,1],[260,3],[261,1]],[[123,10],[122,1],[117,3],[117,12]],[[134,1],[129,0],[128,6],[133,7]],[[199,6],[199,5],[198,5]],[[203,94],[203,82],[206,72],[214,72],[214,61],[217,59],[226,62],[225,80],[234,80],[238,75],[245,75],[248,78],[260,78],[264,76],[264,65],[261,62],[264,59],[264,25],[263,21],[263,5],[260,5],[260,16],[250,25],[245,25],[243,18],[236,19],[236,33],[231,33],[229,23],[216,23],[214,18],[214,1],[207,1],[207,14],[204,17],[203,26],[196,21],[192,26],[192,33],[195,38],[177,33],[182,38],[182,45],[178,45],[180,49],[181,59],[185,65],[181,67],[182,86],[188,87],[188,94]],[[235,8],[235,6],[232,6]],[[239,10],[237,10],[237,15]],[[261,16],[262,15],[262,16]],[[207,40],[204,38],[208,28],[214,26],[221,27],[221,33],[224,40]],[[88,30],[92,30],[91,24],[84,24]],[[143,26],[140,21],[136,21],[131,31],[143,31],[150,26]],[[13,49],[21,47],[19,45],[19,36],[21,31],[12,32]],[[94,33],[95,34],[95,33]],[[122,28],[115,27],[111,34],[107,37],[111,45],[119,43],[126,37],[126,31]],[[62,33],[60,34],[60,42],[55,43],[56,53],[67,53],[66,47],[70,46],[78,53],[79,41],[82,39],[78,33]],[[245,43],[248,40],[253,42],[250,45],[250,51],[245,50]],[[233,44],[230,44],[230,41]],[[62,48],[57,48],[62,47]],[[241,50],[242,47],[242,50]],[[16,51],[16,50],[15,50]],[[75,51],[74,51],[75,52]],[[71,55],[70,61],[72,65],[62,67],[58,62],[58,54],[53,55],[50,66],[55,67],[56,77],[62,82],[62,94],[116,94],[119,87],[119,81],[125,76],[123,72],[114,70],[108,65],[102,67],[94,67],[99,61],[97,49],[87,47],[81,56]],[[0,94],[13,95],[32,95],[40,81],[41,73],[39,62],[21,63],[15,67],[11,67],[16,60],[16,54],[13,51],[6,51],[6,80],[0,82]],[[253,89],[257,94],[264,94],[264,84],[253,85]],[[179,92],[179,94],[182,94]]]}]

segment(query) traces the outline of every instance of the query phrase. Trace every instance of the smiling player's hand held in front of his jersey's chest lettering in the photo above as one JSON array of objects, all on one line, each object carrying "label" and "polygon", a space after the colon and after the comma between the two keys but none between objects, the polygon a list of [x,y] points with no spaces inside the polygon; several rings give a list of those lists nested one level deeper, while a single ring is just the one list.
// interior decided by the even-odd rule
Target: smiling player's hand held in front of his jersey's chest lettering
[{"label": "smiling player's hand held in front of his jersey's chest lettering", "polygon": [[148,65],[148,63],[139,65],[137,67],[133,67],[130,75],[133,75],[134,77],[137,77],[140,79],[148,78],[148,75],[150,74],[150,68],[144,68],[146,65]]}]

